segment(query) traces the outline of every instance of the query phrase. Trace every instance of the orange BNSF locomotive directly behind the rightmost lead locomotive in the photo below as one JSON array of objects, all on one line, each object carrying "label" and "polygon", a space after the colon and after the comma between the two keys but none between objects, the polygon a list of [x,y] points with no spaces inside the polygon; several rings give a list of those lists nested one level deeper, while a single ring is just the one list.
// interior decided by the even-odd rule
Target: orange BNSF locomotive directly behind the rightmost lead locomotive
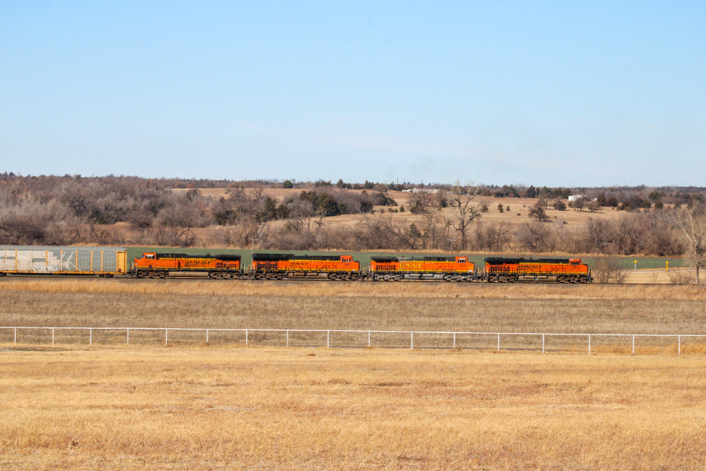
[{"label": "orange BNSF locomotive directly behind the rightmost lead locomotive", "polygon": [[468,257],[373,257],[368,278],[375,280],[473,281],[475,265]]}]

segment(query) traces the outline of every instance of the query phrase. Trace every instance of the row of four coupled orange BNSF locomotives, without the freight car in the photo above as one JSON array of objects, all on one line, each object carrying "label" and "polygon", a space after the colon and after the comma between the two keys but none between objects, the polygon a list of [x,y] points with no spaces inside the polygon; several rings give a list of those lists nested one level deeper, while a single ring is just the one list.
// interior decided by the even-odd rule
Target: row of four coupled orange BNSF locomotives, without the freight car
[{"label": "row of four coupled orange BNSF locomotives, without the freight car", "polygon": [[207,273],[209,278],[249,278],[253,280],[444,280],[476,282],[591,282],[591,271],[579,258],[485,259],[478,272],[467,256],[453,257],[373,257],[361,270],[351,255],[308,256],[293,254],[253,254],[249,270],[242,270],[240,256],[157,254],[147,252],[136,258],[128,275],[138,278],[167,278],[170,273]]}]

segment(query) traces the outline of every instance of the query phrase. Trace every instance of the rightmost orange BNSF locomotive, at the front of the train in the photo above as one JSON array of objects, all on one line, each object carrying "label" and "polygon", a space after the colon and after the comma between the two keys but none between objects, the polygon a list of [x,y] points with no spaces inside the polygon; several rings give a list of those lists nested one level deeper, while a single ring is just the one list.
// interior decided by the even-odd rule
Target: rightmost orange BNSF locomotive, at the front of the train
[{"label": "rightmost orange BNSF locomotive, at the front of the train", "polygon": [[591,270],[580,258],[504,258],[485,259],[484,281],[590,283]]}]

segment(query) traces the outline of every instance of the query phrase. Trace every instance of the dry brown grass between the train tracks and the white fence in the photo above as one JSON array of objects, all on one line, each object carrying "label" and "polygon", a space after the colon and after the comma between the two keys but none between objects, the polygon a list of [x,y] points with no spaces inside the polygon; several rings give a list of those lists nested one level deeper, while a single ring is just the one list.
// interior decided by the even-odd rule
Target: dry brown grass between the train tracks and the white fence
[{"label": "dry brown grass between the train tracks and the white fence", "polygon": [[[677,285],[8,278],[0,282],[0,326],[702,335],[706,333],[705,297],[700,287]],[[253,336],[251,341],[284,345],[282,335]],[[123,330],[104,335],[103,341],[119,343],[125,337]],[[131,339],[160,345],[164,333],[135,332]],[[11,340],[11,331],[0,330],[0,342]],[[203,340],[203,333],[174,333],[173,337],[184,345],[200,345]],[[375,340],[374,345],[409,345],[408,335]],[[18,341],[51,343],[51,334],[23,331]],[[85,344],[88,335],[71,330],[60,333],[56,341]],[[244,336],[213,334],[210,341],[242,344]],[[502,343],[507,348],[534,350],[541,342],[537,335],[517,335],[503,338]],[[553,336],[546,342],[552,350],[578,353],[587,346],[585,337]],[[593,342],[596,352],[631,349],[628,338]],[[684,351],[701,352],[704,342],[685,339]],[[334,344],[365,346],[367,338],[343,335]],[[639,353],[649,352],[645,349],[676,353],[674,338],[638,338],[636,344]],[[292,338],[290,345],[325,345],[325,337]],[[419,335],[415,345],[450,348],[453,338]],[[494,345],[492,335],[457,338],[457,346],[464,348]]]}]

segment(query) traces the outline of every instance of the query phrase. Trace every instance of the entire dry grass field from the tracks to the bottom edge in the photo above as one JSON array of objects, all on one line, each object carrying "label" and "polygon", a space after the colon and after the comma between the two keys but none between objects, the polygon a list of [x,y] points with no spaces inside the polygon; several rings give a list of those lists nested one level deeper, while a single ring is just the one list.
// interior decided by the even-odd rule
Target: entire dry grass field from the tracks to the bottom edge
[{"label": "entire dry grass field from the tracks to the bottom edge", "polygon": [[[0,326],[702,334],[705,301],[684,285],[7,277]],[[640,340],[630,355],[608,338],[588,356],[583,343],[542,355],[537,338],[502,352],[419,338],[410,351],[201,333],[165,347],[131,332],[125,345],[124,331],[89,346],[73,332],[56,345],[0,332],[3,469],[706,466],[698,342],[677,356]]]}]

